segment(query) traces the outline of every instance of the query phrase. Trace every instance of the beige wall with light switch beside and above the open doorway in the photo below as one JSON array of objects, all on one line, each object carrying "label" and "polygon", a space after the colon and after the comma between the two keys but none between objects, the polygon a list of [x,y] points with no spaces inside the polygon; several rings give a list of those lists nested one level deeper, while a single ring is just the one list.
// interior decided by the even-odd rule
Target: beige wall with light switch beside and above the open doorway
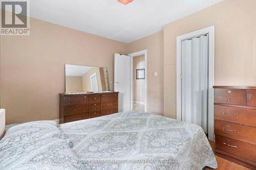
[{"label": "beige wall with light switch beside and above the open doorway", "polygon": [[128,44],[129,54],[141,50],[147,50],[147,112],[163,115],[163,31]]}]

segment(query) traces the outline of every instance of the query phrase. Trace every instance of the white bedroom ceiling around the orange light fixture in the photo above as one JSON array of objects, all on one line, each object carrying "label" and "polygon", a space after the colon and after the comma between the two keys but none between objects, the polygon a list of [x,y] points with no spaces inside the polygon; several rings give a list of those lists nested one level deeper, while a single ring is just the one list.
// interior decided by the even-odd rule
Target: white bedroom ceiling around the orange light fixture
[{"label": "white bedroom ceiling around the orange light fixture", "polygon": [[221,1],[134,0],[123,5],[117,0],[33,0],[30,14],[61,26],[129,43]]}]

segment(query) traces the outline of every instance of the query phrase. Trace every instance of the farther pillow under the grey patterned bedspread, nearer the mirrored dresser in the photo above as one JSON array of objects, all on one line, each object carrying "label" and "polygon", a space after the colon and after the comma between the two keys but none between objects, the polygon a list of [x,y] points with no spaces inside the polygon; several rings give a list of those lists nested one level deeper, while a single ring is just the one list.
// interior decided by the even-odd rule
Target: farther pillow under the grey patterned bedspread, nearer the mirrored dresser
[{"label": "farther pillow under the grey patterned bedspread, nearer the mirrored dresser", "polygon": [[20,143],[30,143],[60,133],[54,121],[36,121],[11,127],[0,140],[0,151]]}]

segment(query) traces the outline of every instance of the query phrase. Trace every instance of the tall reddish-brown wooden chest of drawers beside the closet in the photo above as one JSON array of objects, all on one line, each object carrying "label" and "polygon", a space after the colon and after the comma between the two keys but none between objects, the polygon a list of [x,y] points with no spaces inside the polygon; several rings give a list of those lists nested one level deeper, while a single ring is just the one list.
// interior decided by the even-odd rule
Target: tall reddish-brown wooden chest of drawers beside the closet
[{"label": "tall reddish-brown wooden chest of drawers beside the closet", "polygon": [[214,88],[217,156],[256,169],[256,87]]}]

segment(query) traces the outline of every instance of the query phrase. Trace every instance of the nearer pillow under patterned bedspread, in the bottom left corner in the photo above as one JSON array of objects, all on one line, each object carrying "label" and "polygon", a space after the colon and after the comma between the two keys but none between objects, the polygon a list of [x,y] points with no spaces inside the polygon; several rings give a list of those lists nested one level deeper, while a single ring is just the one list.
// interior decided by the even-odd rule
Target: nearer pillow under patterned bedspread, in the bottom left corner
[{"label": "nearer pillow under patterned bedspread, in the bottom left corner", "polygon": [[0,151],[0,169],[71,169],[77,158],[65,139],[56,137],[20,143]]}]

